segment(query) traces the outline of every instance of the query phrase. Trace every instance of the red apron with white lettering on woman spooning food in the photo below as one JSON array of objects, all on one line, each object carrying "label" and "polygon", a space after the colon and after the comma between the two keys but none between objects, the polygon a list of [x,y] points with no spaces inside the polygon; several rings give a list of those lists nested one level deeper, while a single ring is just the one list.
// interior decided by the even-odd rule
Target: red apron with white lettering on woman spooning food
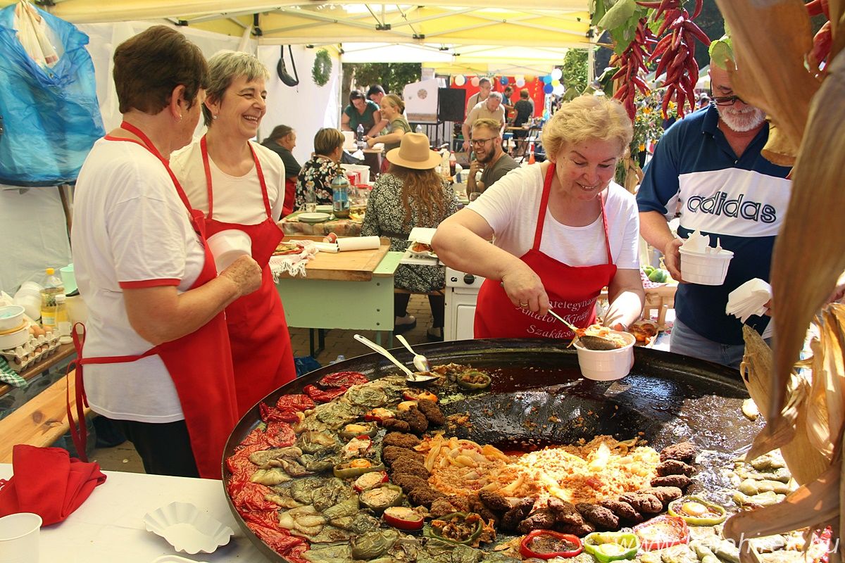
[{"label": "red apron with white lettering on woman spooning food", "polygon": [[[596,321],[596,300],[602,288],[616,274],[616,264],[610,254],[608,218],[602,204],[604,241],[608,263],[596,266],[570,266],[540,252],[542,225],[546,219],[548,196],[552,189],[554,163],[549,165],[542,187],[540,211],[534,246],[520,259],[540,277],[548,294],[551,309],[576,327],[586,328]],[[487,279],[478,291],[475,315],[475,338],[574,338],[569,328],[551,315],[540,317],[527,309],[515,306],[499,281]]]}]

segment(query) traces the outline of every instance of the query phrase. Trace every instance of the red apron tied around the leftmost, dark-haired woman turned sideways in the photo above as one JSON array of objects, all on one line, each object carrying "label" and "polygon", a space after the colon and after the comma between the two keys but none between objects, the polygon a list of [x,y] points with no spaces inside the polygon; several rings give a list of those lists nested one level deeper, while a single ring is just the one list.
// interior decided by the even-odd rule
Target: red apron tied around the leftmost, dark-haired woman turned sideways
[{"label": "red apron tied around the leftmost, dark-haired woman turned sideways", "polygon": [[[191,208],[182,186],[177,181],[176,176],[173,175],[167,161],[161,157],[150,139],[140,129],[127,122],[123,122],[121,127],[137,135],[144,143],[139,143],[132,138],[115,138],[108,135],[106,135],[106,139],[139,143],[161,160],[161,164],[164,165],[172,178],[173,186],[176,187],[179,198],[184,203],[185,208],[188,209],[188,214],[191,216],[191,226],[194,227],[194,231],[199,235],[200,241],[205,246],[203,269],[190,289],[193,290],[208,283],[211,279],[215,279],[217,273],[214,257],[205,243],[202,212]],[[229,348],[229,334],[226,331],[226,320],[222,311],[194,333],[186,334],[171,342],[159,344],[141,355],[85,358],[83,355],[85,332],[80,337],[74,328],[73,336],[78,355],[78,359],[72,365],[75,364],[76,366],[76,412],[80,422],[79,432],[75,428],[69,400],[68,421],[71,423],[71,434],[74,437],[76,450],[83,461],[87,461],[85,459],[87,436],[82,404],[84,401],[87,403],[87,400],[83,387],[82,366],[86,364],[119,364],[137,361],[151,355],[159,355],[172,377],[179,396],[179,403],[182,404],[182,412],[185,416],[185,424],[188,426],[188,436],[191,441],[191,449],[194,452],[194,460],[199,469],[199,476],[204,479],[220,479],[223,448],[237,423],[232,352]]]}]

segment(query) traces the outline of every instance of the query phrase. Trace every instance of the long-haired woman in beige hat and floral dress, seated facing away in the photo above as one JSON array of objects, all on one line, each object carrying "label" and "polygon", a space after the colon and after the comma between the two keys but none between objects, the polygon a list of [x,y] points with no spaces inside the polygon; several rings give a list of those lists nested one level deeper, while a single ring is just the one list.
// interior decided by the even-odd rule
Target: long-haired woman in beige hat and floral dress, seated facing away
[{"label": "long-haired woman in beige hat and floral dress, seated facing away", "polygon": [[[364,215],[362,236],[390,237],[390,250],[404,252],[408,235],[414,227],[433,228],[457,210],[455,192],[434,171],[440,155],[428,148],[423,133],[405,133],[398,149],[387,153],[390,169],[379,176],[373,186]],[[401,290],[431,293],[444,288],[444,273],[436,266],[400,264],[394,284]],[[395,332],[401,333],[417,325],[407,314],[411,295],[394,295]],[[443,339],[444,296],[428,295],[432,327],[429,340]]]}]

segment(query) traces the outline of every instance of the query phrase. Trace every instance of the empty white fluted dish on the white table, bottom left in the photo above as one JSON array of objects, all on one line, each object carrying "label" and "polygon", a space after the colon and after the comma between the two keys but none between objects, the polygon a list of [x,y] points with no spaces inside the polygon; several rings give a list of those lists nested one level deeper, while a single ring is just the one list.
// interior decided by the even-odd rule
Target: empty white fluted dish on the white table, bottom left
[{"label": "empty white fluted dish on the white table, bottom left", "polygon": [[177,551],[212,553],[229,543],[232,528],[217,522],[189,502],[171,502],[144,515],[147,530],[166,539]]}]

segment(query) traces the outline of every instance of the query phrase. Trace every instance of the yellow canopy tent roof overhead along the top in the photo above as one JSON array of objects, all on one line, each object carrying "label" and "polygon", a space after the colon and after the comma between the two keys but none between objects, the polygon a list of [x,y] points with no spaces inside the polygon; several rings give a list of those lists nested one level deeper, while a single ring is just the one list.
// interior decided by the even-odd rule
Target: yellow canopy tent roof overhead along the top
[{"label": "yellow canopy tent roof overhead along the top", "polygon": [[[54,2],[42,9],[74,24],[164,19],[239,36],[257,19],[259,45],[334,45],[344,62],[360,61],[352,56],[362,51],[359,43],[370,45],[369,62],[389,60],[399,46],[415,46],[413,62],[431,63],[439,72],[548,72],[567,48],[589,46],[587,0]],[[349,57],[343,57],[346,51]]]}]

